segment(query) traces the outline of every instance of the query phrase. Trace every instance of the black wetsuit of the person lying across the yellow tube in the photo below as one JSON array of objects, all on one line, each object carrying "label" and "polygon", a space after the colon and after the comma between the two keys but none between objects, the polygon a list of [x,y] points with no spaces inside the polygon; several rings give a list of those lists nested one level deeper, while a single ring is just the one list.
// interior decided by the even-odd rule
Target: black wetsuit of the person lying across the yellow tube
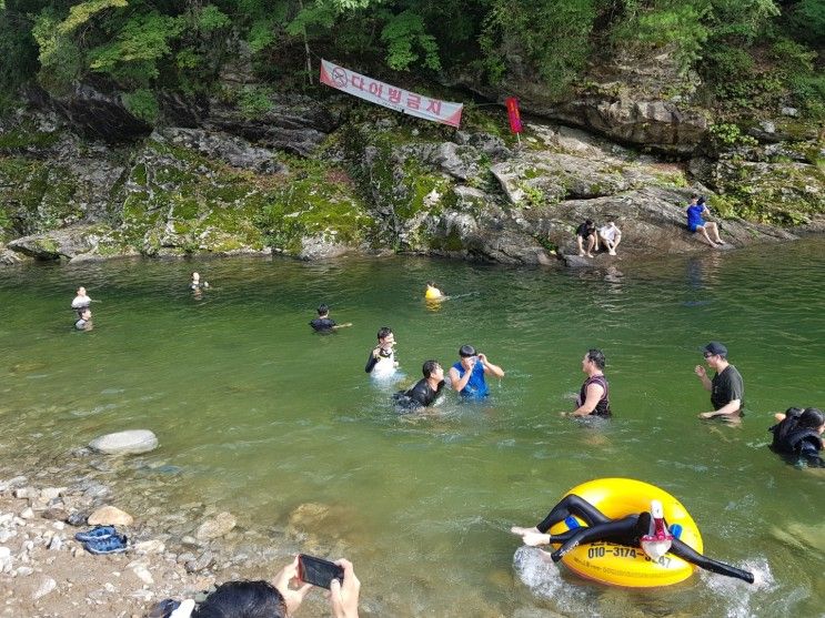
[{"label": "black wetsuit of the person lying across the yellow tube", "polygon": [[[583,543],[606,541],[626,547],[641,547],[640,539],[642,536],[650,534],[652,521],[651,514],[647,511],[638,515],[627,515],[621,519],[611,519],[584,498],[571,494],[555,505],[536,528],[540,533],[546,534],[552,526],[571,515],[584,519],[587,527],[573,528],[561,535],[550,537],[551,543],[561,544],[561,547],[550,555],[554,563],[561,560],[565,554]],[[736,577],[748,584],[754,581],[752,573],[703,556],[677,538],[673,539],[670,553],[703,569]]]}]

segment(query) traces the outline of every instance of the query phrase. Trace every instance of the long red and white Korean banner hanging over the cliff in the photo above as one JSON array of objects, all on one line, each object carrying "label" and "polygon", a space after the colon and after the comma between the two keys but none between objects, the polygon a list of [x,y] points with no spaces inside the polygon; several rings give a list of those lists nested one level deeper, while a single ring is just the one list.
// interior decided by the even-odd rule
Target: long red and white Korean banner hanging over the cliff
[{"label": "long red and white Korean banner hanging over the cliff", "polygon": [[451,103],[440,99],[430,99],[423,94],[415,94],[409,90],[350,71],[328,60],[321,60],[321,83],[398,112],[441,122],[450,126],[459,126],[461,112],[464,109],[462,103]]}]

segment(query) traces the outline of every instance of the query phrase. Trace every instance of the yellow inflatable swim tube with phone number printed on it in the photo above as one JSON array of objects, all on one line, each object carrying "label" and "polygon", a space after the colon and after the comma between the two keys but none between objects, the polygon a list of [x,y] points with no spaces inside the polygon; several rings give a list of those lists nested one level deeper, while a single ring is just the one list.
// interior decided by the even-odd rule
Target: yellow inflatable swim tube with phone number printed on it
[{"label": "yellow inflatable swim tube with phone number printed on it", "polygon": [[[702,535],[693,517],[682,503],[654,485],[632,478],[598,478],[573,487],[565,495],[570,494],[584,498],[613,519],[650,510],[651,500],[660,500],[667,525],[678,524],[682,527],[680,540],[702,554]],[[583,520],[576,520],[581,526],[586,526]],[[549,531],[559,535],[569,529],[564,521],[560,521]],[[666,554],[654,563],[638,547],[612,543],[581,545],[564,556],[562,563],[583,577],[630,588],[677,584],[691,577],[695,568],[673,554]]]}]

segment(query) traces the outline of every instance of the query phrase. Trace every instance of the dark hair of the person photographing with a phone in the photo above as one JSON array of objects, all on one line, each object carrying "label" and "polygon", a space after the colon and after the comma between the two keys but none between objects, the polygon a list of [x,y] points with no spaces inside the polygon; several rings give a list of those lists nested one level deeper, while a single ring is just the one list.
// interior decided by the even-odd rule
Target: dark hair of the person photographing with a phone
[{"label": "dark hair of the person photographing with a phone", "polygon": [[269,581],[227,581],[198,606],[192,618],[286,618],[286,601]]}]

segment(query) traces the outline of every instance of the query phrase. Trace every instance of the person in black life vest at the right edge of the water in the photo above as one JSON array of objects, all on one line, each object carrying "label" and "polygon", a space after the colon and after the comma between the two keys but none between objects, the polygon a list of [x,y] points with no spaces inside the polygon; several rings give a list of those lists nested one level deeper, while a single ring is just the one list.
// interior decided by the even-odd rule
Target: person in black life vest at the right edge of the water
[{"label": "person in black life vest at the right edge of the water", "polygon": [[789,407],[785,414],[777,414],[778,423],[768,430],[774,439],[771,449],[793,459],[794,464],[807,464],[825,468],[822,452],[822,434],[825,432],[825,415],[821,409]]}]

